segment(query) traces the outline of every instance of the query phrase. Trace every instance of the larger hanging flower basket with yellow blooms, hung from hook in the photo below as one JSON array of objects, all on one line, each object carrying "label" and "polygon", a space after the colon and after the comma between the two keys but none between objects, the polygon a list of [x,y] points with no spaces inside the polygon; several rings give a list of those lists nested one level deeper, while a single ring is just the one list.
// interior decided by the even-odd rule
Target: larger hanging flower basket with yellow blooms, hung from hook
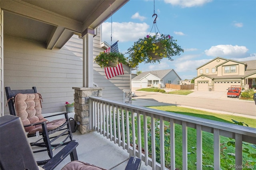
[{"label": "larger hanging flower basket with yellow blooms, hung from hook", "polygon": [[154,36],[147,35],[140,38],[134,45],[128,49],[127,54],[130,67],[136,67],[139,63],[156,63],[162,58],[173,60],[172,57],[180,55],[184,50],[177,45],[170,35],[157,34]]}]

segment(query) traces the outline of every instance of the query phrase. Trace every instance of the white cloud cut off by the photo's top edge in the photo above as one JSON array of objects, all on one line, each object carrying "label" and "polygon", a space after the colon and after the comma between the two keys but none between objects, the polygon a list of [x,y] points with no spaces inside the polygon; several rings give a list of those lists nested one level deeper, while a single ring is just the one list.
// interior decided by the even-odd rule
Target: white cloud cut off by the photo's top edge
[{"label": "white cloud cut off by the photo's top edge", "polygon": [[193,7],[193,6],[203,6],[204,4],[211,2],[212,0],[164,0],[167,4],[172,4],[174,6],[181,6],[182,8]]}]

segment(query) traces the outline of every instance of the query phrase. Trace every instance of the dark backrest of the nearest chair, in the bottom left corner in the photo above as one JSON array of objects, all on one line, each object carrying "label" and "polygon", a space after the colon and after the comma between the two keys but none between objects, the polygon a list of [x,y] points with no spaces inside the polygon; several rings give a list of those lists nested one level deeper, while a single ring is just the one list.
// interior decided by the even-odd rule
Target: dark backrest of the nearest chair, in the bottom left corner
[{"label": "dark backrest of the nearest chair, in the bottom left corner", "polygon": [[38,170],[19,117],[0,117],[0,169]]}]

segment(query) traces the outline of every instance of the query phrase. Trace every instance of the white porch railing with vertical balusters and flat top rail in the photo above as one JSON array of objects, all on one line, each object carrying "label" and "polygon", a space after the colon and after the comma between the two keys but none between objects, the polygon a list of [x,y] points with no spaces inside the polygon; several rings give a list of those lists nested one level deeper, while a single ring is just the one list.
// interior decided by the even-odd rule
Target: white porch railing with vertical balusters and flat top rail
[{"label": "white porch railing with vertical balusters and flat top rail", "polygon": [[[129,112],[131,113],[130,120],[127,121],[126,118],[129,117]],[[144,122],[143,125],[141,124],[141,116],[143,119],[142,122]],[[148,148],[148,139],[150,139],[148,136],[148,119],[151,121],[150,129],[152,150],[150,153]],[[158,125],[155,124],[156,120],[159,120]],[[90,97],[91,128],[100,132],[119,146],[122,146],[123,149],[126,149],[127,152],[130,153],[130,156],[137,156],[142,159],[145,164],[150,165],[153,170],[165,169],[164,122],[166,121],[170,125],[169,155],[171,170],[175,170],[175,124],[182,126],[183,170],[188,169],[187,143],[188,140],[190,140],[187,138],[188,127],[196,129],[196,167],[198,170],[202,169],[202,132],[213,133],[214,170],[220,169],[220,136],[235,139],[235,164],[240,166],[242,165],[242,142],[256,144],[256,128],[128,105],[99,97]],[[160,130],[160,163],[156,162],[155,126],[158,126]],[[141,129],[144,129],[144,131]],[[142,139],[144,139],[144,144]],[[136,140],[137,142],[135,142]],[[144,152],[142,152],[142,148]],[[151,158],[149,154],[151,154]],[[242,170],[242,168],[237,169]]]}]

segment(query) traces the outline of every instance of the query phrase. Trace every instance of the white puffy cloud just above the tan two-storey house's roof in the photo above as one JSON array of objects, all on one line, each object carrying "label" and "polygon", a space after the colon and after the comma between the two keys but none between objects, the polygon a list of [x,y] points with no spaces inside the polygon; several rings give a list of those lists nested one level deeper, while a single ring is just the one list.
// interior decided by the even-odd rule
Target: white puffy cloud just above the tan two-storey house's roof
[{"label": "white puffy cloud just above the tan two-storey house's roof", "polygon": [[208,56],[213,57],[246,57],[248,49],[245,46],[238,45],[216,45],[212,46],[210,49],[206,49],[204,52]]}]

